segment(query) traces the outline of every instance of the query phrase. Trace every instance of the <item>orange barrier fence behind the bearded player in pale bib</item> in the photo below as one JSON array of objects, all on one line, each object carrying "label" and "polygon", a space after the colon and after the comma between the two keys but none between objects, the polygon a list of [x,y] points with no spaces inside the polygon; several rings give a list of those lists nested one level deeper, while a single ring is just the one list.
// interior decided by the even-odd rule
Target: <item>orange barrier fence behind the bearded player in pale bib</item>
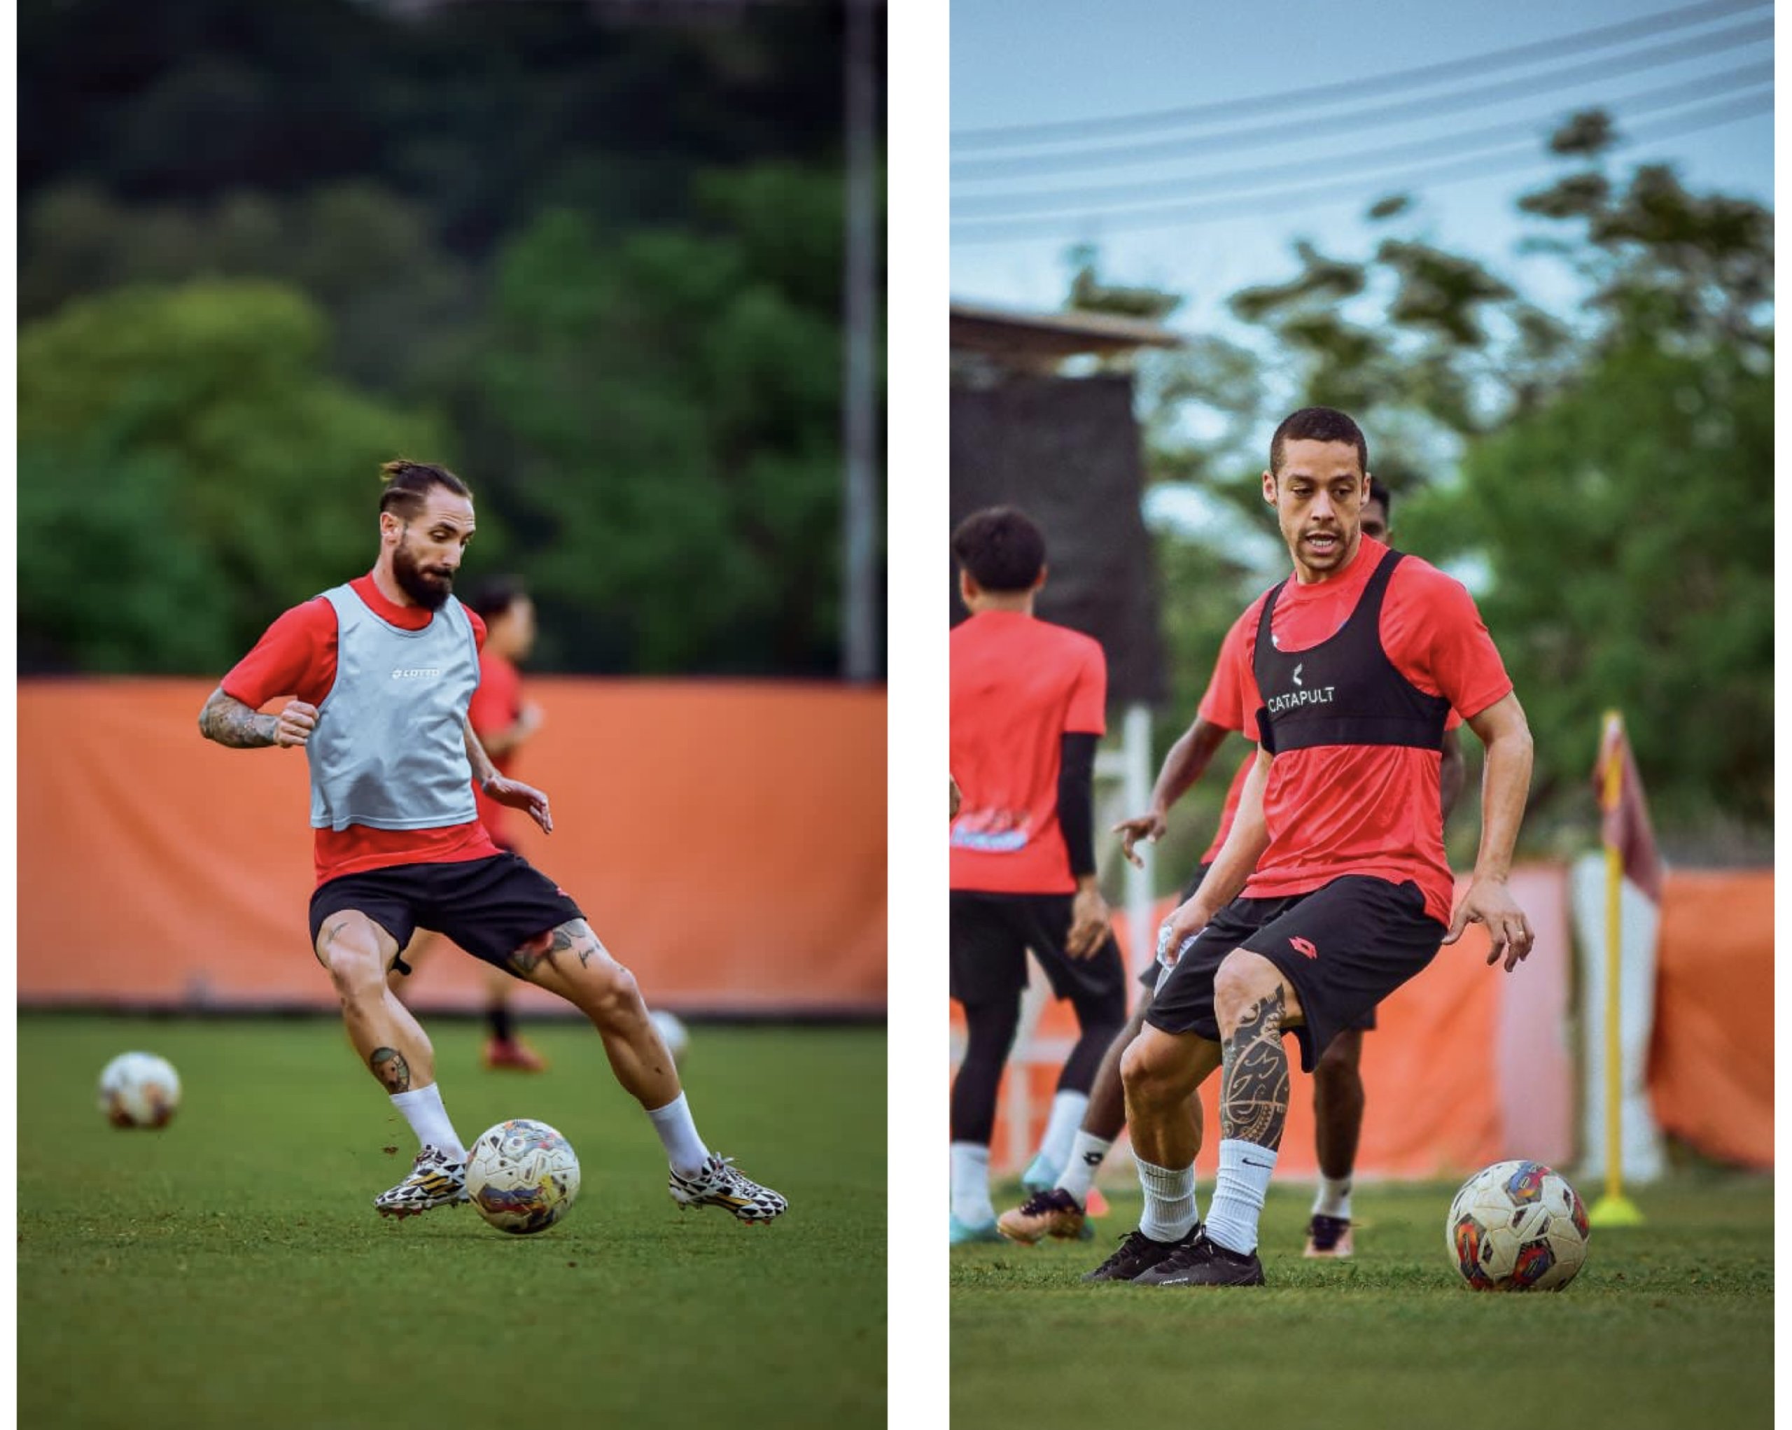
[{"label": "orange barrier fence behind the bearded player in pale bib", "polygon": [[[308,948],[305,756],[201,738],[210,681],[18,686],[23,1004],[335,1007]],[[772,683],[536,677],[523,853],[652,1004],[880,1014],[885,697]],[[527,823],[527,821],[521,821]],[[473,1007],[443,948],[419,1007]],[[534,987],[518,1007],[564,1009]]]}]

